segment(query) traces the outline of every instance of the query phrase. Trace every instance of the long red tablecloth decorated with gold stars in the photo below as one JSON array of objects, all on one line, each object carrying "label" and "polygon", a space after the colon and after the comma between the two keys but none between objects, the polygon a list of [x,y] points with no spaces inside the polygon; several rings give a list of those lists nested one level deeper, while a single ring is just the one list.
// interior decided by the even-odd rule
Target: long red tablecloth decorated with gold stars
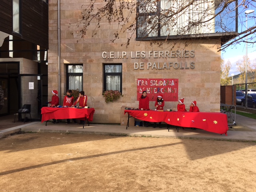
[{"label": "long red tablecloth decorated with gold stars", "polygon": [[227,115],[218,112],[124,110],[124,114],[126,113],[149,122],[166,122],[174,126],[198,128],[219,134],[227,134],[228,131]]}]

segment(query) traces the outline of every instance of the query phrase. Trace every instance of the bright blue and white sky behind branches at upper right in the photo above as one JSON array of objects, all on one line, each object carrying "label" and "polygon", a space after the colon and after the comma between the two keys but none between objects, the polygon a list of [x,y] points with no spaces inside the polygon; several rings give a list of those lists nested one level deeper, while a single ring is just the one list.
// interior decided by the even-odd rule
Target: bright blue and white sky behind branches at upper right
[{"label": "bright blue and white sky behind branches at upper right", "polygon": [[[239,0],[240,2],[240,0]],[[256,6],[256,3],[253,3]],[[247,16],[247,27],[253,26],[256,24],[255,19],[250,16],[256,16],[256,8],[255,7],[248,7],[248,9],[240,10],[238,12],[245,12],[246,10],[255,10],[254,13],[248,14]],[[238,21],[239,22],[239,21]],[[246,30],[246,16],[244,14],[244,17],[242,17],[243,24],[238,24],[238,32],[241,32],[242,30]],[[249,39],[250,37],[248,37]],[[222,58],[224,59],[224,62],[226,63],[228,60],[231,63],[231,69],[230,69],[230,76],[231,74],[239,74],[240,72],[236,68],[236,61],[242,60],[243,56],[246,55],[246,43],[242,43],[236,46],[230,46],[225,51],[222,51]],[[247,56],[250,59],[250,62],[252,62],[256,58],[256,45],[247,45]]]}]

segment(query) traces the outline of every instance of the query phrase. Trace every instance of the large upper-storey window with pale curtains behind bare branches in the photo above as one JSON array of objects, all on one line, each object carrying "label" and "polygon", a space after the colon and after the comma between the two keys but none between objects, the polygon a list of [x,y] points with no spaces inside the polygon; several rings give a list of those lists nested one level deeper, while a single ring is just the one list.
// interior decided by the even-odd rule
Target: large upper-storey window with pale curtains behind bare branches
[{"label": "large upper-storey window with pale curtains behind bare branches", "polygon": [[[188,5],[189,1],[186,0],[151,0],[151,2],[148,4],[142,1],[137,8],[137,38],[177,38],[174,36],[208,35],[236,32],[237,30],[236,2],[231,3],[222,14],[216,17],[214,17],[215,14],[222,10],[223,6],[217,0],[198,0],[190,5]],[[181,8],[184,9],[180,11]],[[170,18],[170,15],[176,12],[178,13]],[[207,20],[209,21],[206,22]],[[193,23],[201,24],[195,26]],[[215,36],[219,35],[216,34]]]}]

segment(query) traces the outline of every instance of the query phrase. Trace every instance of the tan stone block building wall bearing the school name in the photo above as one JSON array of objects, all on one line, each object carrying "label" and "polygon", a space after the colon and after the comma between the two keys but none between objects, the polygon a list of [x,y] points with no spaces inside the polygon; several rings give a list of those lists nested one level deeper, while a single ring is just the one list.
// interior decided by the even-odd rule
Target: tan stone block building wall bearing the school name
[{"label": "tan stone block building wall bearing the school name", "polygon": [[[48,92],[60,87],[62,104],[67,84],[67,64],[83,66],[83,90],[88,96],[88,106],[95,109],[96,123],[120,123],[122,106],[138,107],[138,78],[178,79],[177,99],[184,98],[187,110],[196,100],[202,112],[220,111],[220,39],[168,40],[162,48],[150,46],[150,41],[130,41],[128,48],[121,46],[127,41],[128,33],[118,40],[114,38],[118,25],[102,23],[92,37],[94,26],[81,39],[76,22],[80,18],[82,5],[90,1],[60,1],[60,58],[58,57],[58,6],[57,0],[49,1],[49,49],[48,49]],[[95,3],[95,6],[102,2]],[[184,46],[188,43],[188,46]],[[58,74],[60,62],[60,74]],[[116,102],[106,103],[102,96],[104,86],[104,64],[122,65],[122,97]],[[59,81],[60,79],[60,81]],[[50,99],[50,94],[48,98]],[[165,109],[176,109],[178,101],[167,101]],[[150,101],[150,109],[155,109]]]}]

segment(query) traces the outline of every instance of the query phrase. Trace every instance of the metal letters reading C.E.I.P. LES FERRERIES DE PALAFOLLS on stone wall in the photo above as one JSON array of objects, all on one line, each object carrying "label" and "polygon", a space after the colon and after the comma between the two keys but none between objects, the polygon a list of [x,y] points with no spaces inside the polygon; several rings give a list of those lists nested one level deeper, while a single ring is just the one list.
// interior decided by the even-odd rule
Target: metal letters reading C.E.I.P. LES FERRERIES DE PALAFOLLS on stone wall
[{"label": "metal letters reading C.E.I.P. LES FERRERIES DE PALAFOLLS on stone wall", "polygon": [[[176,51],[132,51],[130,54],[128,52],[102,52],[103,59],[128,59],[130,56],[131,59],[141,59],[141,58],[168,58],[169,60],[172,58],[194,58],[195,51],[194,50],[176,50]],[[144,65],[146,68],[144,68]],[[168,69],[194,69],[195,62],[148,62],[144,64],[144,62],[134,62],[134,70],[168,70]]]}]

